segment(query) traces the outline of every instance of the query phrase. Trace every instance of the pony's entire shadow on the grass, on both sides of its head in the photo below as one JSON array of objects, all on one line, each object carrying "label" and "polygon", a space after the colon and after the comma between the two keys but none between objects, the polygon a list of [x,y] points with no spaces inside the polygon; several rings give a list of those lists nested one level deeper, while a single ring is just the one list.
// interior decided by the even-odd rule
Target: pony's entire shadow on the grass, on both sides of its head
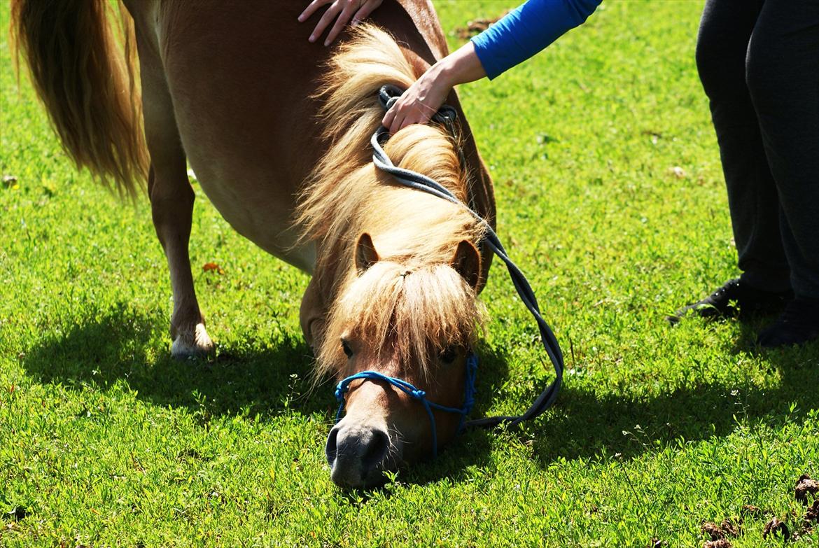
[{"label": "pony's entire shadow on the grass, on both sides of its head", "polygon": [[[83,390],[127,388],[153,405],[187,408],[201,423],[222,415],[249,415],[265,421],[282,414],[323,414],[328,431],[337,410],[333,382],[312,389],[314,358],[298,336],[278,335],[276,342],[246,341],[219,348],[215,356],[176,360],[156,341],[166,340],[165,318],[147,315],[124,303],[113,309],[86,310],[52,326],[52,333],[20,356],[39,383]],[[479,392],[473,417],[491,405],[494,385],[508,377],[506,356],[482,347]],[[458,437],[435,463],[423,462],[401,472],[411,482],[432,482],[460,473],[488,459],[486,431]],[[464,448],[466,447],[466,449]],[[320,446],[316,451],[322,451]],[[432,465],[431,465],[432,464]]]}]

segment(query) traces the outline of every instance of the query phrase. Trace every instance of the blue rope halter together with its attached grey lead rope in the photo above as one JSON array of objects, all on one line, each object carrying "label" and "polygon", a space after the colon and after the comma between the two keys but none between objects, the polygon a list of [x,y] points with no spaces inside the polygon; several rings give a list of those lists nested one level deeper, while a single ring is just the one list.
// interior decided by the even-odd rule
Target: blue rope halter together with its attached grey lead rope
[{"label": "blue rope halter together with its attached grey lead rope", "polygon": [[[384,110],[389,110],[392,104],[398,100],[398,97],[400,97],[402,93],[404,92],[400,88],[396,88],[396,86],[383,86],[380,90],[378,90],[378,102],[381,103]],[[455,120],[457,120],[457,112],[455,111],[455,108],[449,105],[441,106],[441,109],[437,111],[436,115],[432,116],[432,120],[439,124],[445,125],[450,133],[456,137]],[[387,139],[389,138],[390,134],[387,128],[379,127],[375,134],[373,134],[373,137],[370,139],[370,144],[373,147],[373,163],[375,166],[379,170],[391,174],[398,183],[401,183],[409,188],[415,188],[416,190],[428,192],[433,196],[440,197],[443,200],[447,200],[464,207],[466,211],[471,213],[480,223],[483,224],[484,229],[486,229],[484,243],[486,243],[486,246],[489,247],[491,251],[504,262],[506,269],[509,270],[509,278],[512,279],[514,288],[518,292],[518,296],[520,297],[521,301],[523,301],[524,306],[526,306],[527,310],[532,313],[532,316],[537,323],[537,328],[541,333],[541,342],[543,347],[546,354],[549,356],[552,365],[554,365],[554,380],[548,387],[545,387],[544,391],[541,392],[541,395],[537,396],[534,403],[532,403],[532,405],[529,406],[529,409],[524,411],[523,414],[514,416],[485,417],[483,419],[470,420],[468,422],[464,422],[464,417],[472,409],[474,403],[475,374],[477,372],[477,356],[475,356],[473,353],[470,353],[467,360],[467,373],[464,382],[464,405],[460,409],[455,407],[445,407],[443,405],[433,403],[432,401],[428,401],[426,399],[426,393],[423,392],[423,390],[419,390],[412,384],[409,384],[400,378],[388,377],[387,375],[380,374],[376,371],[362,371],[361,373],[351,375],[350,377],[343,379],[341,383],[338,383],[338,387],[336,388],[336,398],[339,401],[339,407],[338,413],[336,414],[336,422],[342,418],[342,412],[344,410],[344,394],[347,392],[347,387],[357,378],[364,380],[380,380],[385,383],[389,383],[414,399],[419,400],[423,404],[424,409],[427,410],[430,425],[432,426],[432,454],[434,456],[437,455],[437,432],[435,428],[435,418],[432,415],[432,409],[461,414],[459,431],[464,425],[470,427],[480,426],[484,428],[492,428],[498,426],[499,424],[506,424],[509,426],[509,428],[518,426],[518,424],[522,423],[524,420],[534,419],[538,415],[542,414],[552,404],[554,404],[554,400],[560,391],[561,384],[563,383],[563,352],[560,350],[560,345],[557,338],[554,337],[554,333],[552,333],[549,324],[546,324],[545,319],[543,319],[541,316],[541,309],[537,304],[537,299],[535,297],[535,293],[532,291],[532,286],[529,285],[529,282],[526,279],[526,276],[523,275],[521,269],[519,269],[518,266],[515,265],[511,259],[509,259],[509,256],[506,254],[506,250],[500,243],[498,235],[495,234],[495,230],[491,228],[489,223],[487,223],[486,220],[481,217],[481,215],[478,215],[463,202],[460,202],[459,199],[449,191],[449,189],[440,183],[437,183],[437,181],[418,172],[405,170],[394,165],[390,160],[390,157],[387,156],[387,153],[384,152],[384,149],[382,148],[382,144],[386,143]],[[464,157],[460,150],[459,153],[461,153],[461,163],[462,165],[465,165]]]}]

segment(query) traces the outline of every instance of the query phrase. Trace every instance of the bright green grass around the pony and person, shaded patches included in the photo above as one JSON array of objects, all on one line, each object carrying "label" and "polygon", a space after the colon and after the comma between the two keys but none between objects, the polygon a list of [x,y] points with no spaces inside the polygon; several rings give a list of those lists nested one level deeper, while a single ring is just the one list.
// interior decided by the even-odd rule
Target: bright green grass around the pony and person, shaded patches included
[{"label": "bright green grass around the pony and person, shaded patches included", "polygon": [[[451,47],[515,3],[436,2]],[[219,357],[172,360],[147,201],[120,204],[66,160],[3,38],[0,171],[17,181],[0,185],[0,546],[701,546],[704,520],[746,504],[763,515],[734,546],[780,545],[763,523],[798,528],[794,482],[819,476],[819,345],[758,351],[760,322],[663,321],[736,274],[700,10],[607,0],[461,90],[565,387],[522,432],[466,433],[352,493],[324,461],[332,391],[307,394],[305,275],[195,187],[192,265]],[[522,410],[550,378],[536,328],[499,264],[483,298],[477,413]]]}]

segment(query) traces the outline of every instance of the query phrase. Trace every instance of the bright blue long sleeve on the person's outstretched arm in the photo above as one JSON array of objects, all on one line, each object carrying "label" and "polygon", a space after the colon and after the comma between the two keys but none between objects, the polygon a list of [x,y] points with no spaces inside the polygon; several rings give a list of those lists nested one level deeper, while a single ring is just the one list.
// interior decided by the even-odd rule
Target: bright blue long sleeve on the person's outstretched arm
[{"label": "bright blue long sleeve on the person's outstretched arm", "polygon": [[527,0],[472,38],[486,75],[496,78],[582,25],[601,1]]}]

